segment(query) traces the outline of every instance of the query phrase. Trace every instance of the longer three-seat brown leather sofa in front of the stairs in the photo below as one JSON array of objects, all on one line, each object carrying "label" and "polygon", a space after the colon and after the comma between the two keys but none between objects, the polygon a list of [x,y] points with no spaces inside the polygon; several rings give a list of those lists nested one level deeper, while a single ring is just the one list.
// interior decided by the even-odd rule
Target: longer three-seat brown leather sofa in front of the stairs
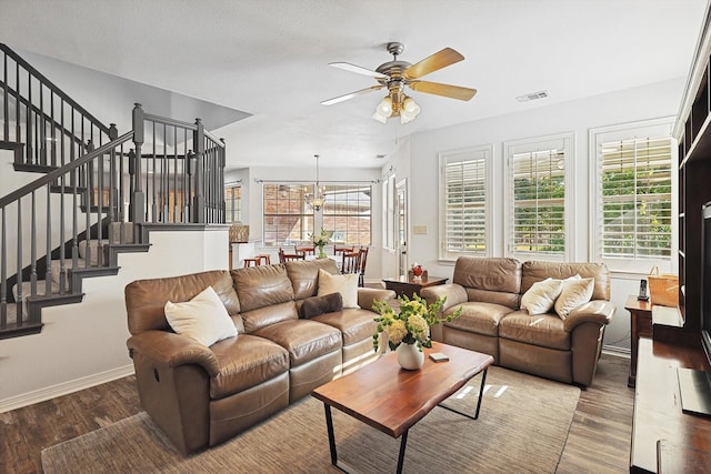
[{"label": "longer three-seat brown leather sofa in front of the stairs", "polygon": [[[221,443],[377,359],[370,309],[394,292],[359,288],[361,309],[300,319],[303,302],[317,295],[319,269],[338,273],[322,259],[127,285],[127,345],[141,406],[183,453]],[[163,311],[167,301],[190,301],[207,286],[238,329],[209,347],[172,332]]]}]

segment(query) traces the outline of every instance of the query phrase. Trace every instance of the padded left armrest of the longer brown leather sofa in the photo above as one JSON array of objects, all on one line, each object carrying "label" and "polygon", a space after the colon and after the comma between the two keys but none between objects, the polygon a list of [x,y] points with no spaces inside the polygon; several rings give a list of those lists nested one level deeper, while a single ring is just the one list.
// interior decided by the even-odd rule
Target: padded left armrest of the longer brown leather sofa
[{"label": "padded left armrest of the longer brown leather sofa", "polygon": [[146,331],[129,337],[126,342],[129,351],[137,351],[156,365],[177,367],[197,364],[210,376],[219,372],[219,363],[210,347],[194,339],[168,331]]}]

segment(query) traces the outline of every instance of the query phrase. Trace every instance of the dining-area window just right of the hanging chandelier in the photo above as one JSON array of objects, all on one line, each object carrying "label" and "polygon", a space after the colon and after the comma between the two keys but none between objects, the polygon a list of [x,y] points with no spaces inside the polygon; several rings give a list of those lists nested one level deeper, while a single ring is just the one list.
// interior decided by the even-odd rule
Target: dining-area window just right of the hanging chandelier
[{"label": "dining-area window just right of the hanging chandelier", "polygon": [[370,184],[329,184],[322,186],[323,229],[332,230],[334,244],[370,245]]}]

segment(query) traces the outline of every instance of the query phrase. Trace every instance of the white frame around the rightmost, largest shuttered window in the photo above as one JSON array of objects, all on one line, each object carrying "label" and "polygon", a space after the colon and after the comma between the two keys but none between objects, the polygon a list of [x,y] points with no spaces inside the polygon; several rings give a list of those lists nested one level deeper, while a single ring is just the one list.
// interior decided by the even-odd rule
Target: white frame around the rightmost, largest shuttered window
[{"label": "white frame around the rightmost, largest shuttered window", "polygon": [[[594,177],[591,183],[593,199],[590,202],[590,255],[597,262],[602,262],[615,273],[631,273],[637,275],[648,274],[653,266],[662,272],[673,272],[678,266],[674,249],[678,249],[678,155],[677,140],[672,135],[674,117],[665,117],[652,120],[628,122],[622,124],[600,127],[589,131],[590,175]],[[602,254],[602,235],[599,230],[603,228],[602,218],[602,154],[603,143],[624,141],[642,138],[660,139],[668,137],[670,140],[670,178],[671,178],[671,239],[669,258],[604,258]],[[637,195],[635,195],[637,201]]]}]

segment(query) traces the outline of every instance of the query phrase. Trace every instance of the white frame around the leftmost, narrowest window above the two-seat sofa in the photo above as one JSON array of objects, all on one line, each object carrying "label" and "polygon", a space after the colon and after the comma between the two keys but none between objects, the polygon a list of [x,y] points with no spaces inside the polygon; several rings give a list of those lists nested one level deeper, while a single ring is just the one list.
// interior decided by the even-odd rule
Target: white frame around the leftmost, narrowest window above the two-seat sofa
[{"label": "white frame around the leftmost, narrowest window above the two-seat sofa", "polygon": [[[439,260],[455,261],[459,256],[490,256],[492,254],[492,230],[491,230],[491,186],[493,177],[493,145],[484,144],[479,147],[470,147],[459,150],[449,150],[438,153],[439,159]],[[448,226],[448,175],[447,165],[451,163],[462,163],[465,161],[482,160],[483,172],[483,242],[484,250],[482,252],[465,250],[449,250],[449,226]]]}]

